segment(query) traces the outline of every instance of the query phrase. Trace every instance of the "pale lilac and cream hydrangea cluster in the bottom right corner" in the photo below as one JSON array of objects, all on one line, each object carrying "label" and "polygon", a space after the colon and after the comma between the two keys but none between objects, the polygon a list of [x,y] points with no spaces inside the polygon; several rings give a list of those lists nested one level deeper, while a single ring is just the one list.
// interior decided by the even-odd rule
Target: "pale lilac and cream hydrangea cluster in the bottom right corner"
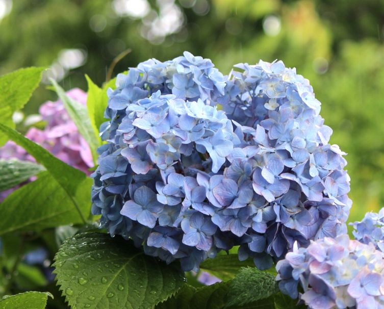
[{"label": "pale lilac and cream hydrangea cluster in the bottom right corner", "polygon": [[384,307],[384,254],[348,235],[294,247],[277,263],[280,290],[313,309]]}]

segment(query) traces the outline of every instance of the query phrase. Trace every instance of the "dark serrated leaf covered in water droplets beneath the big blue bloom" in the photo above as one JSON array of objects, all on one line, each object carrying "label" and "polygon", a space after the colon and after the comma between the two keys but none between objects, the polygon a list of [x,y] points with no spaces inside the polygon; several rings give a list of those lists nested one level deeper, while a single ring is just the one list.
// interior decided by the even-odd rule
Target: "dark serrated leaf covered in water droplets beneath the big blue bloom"
[{"label": "dark serrated leaf covered in water droplets beneath the big blue bloom", "polygon": [[131,242],[102,233],[67,239],[54,266],[72,308],[152,308],[184,283],[178,263],[167,266]]}]

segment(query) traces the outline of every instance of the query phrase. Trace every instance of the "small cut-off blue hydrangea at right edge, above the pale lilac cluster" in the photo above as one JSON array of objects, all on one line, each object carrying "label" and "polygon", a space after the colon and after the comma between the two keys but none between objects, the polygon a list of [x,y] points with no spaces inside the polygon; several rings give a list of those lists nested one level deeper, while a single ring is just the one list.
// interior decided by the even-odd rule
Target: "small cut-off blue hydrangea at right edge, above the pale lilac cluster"
[{"label": "small cut-off blue hydrangea at right edge, above the pale lilac cluster", "polygon": [[373,243],[376,249],[384,252],[384,208],[379,213],[366,213],[361,222],[350,223],[354,230],[353,236],[356,240],[369,244]]}]

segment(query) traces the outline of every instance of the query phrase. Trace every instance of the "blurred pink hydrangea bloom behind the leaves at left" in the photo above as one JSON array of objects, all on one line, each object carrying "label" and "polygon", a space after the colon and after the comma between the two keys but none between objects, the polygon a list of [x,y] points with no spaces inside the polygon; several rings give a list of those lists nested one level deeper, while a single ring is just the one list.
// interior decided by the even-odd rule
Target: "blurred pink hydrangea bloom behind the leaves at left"
[{"label": "blurred pink hydrangea bloom behind the leaves at left", "polygon": [[[76,101],[86,104],[87,94],[81,89],[74,88],[67,95]],[[70,119],[61,100],[47,101],[40,106],[39,114],[46,122],[44,130],[31,127],[25,137],[40,144],[55,157],[68,165],[89,174],[93,167],[91,150],[78,132],[76,125]],[[8,141],[0,148],[0,159],[16,158],[19,160],[35,161],[22,147],[13,141]],[[0,193],[0,201],[12,192],[12,189]]]}]

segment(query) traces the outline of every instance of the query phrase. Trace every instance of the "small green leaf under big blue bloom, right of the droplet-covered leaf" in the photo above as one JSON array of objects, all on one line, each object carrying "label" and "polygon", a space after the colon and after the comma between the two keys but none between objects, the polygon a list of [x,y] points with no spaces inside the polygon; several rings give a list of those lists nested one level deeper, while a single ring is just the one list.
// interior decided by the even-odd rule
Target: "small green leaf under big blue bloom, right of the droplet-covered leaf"
[{"label": "small green leaf under big blue bloom, right of the droplet-covered leaf", "polygon": [[223,281],[233,279],[241,267],[251,266],[251,259],[239,261],[237,254],[218,255],[214,259],[207,259],[201,263],[200,269],[209,272]]}]

